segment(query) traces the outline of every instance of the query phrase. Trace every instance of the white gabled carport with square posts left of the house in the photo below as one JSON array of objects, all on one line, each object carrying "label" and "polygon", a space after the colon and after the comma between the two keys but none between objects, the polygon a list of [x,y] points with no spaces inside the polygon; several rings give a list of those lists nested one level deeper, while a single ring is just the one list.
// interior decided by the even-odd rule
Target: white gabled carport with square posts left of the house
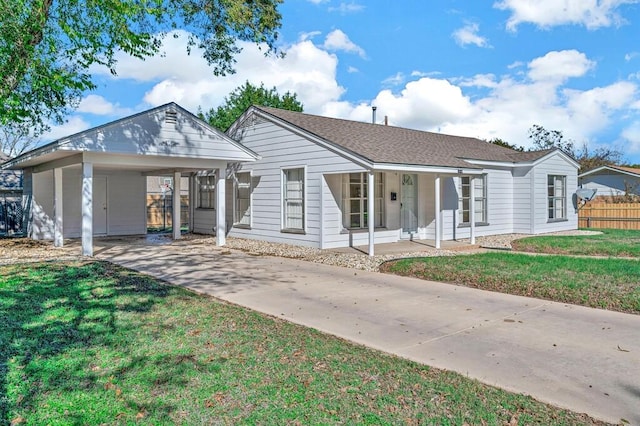
[{"label": "white gabled carport with square posts left of the house", "polygon": [[[82,254],[93,255],[94,235],[146,233],[146,176],[190,177],[197,197],[198,175],[215,176],[216,244],[226,232],[225,179],[231,163],[258,156],[175,103],[169,103],[26,152],[2,165],[24,171],[25,232],[34,239],[81,238]],[[180,197],[174,197],[180,211]],[[210,207],[210,206],[209,206]],[[173,227],[180,238],[180,227]]]}]

